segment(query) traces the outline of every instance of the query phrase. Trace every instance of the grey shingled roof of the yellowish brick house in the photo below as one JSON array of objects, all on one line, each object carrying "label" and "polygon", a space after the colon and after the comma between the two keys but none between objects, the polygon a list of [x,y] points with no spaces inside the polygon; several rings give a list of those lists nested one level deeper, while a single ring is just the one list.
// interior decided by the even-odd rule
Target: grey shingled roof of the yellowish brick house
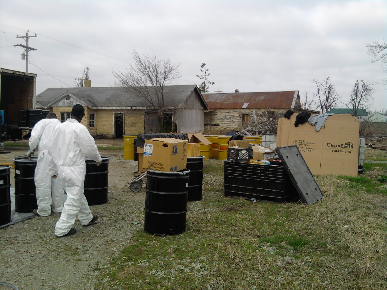
[{"label": "grey shingled roof of the yellowish brick house", "polygon": [[[196,85],[167,85],[164,86],[164,102],[168,107],[179,107],[191,94],[197,90]],[[36,102],[47,108],[66,96],[72,96],[91,108],[124,107],[144,109],[149,107],[144,99],[125,92],[123,87],[83,87],[83,88],[53,88],[46,89],[36,96]],[[203,106],[207,108],[202,95]]]}]

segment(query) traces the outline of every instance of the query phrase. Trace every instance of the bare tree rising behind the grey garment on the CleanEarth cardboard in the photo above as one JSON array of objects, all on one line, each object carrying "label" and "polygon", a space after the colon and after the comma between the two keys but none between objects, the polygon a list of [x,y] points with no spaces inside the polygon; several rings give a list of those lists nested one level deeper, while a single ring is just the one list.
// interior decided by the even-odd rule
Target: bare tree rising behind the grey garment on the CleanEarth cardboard
[{"label": "bare tree rising behind the grey garment on the CleanEarth cardboard", "polygon": [[322,113],[328,113],[328,111],[336,107],[336,102],[339,101],[339,96],[334,88],[334,85],[330,84],[329,76],[324,78],[322,82],[313,79],[315,82],[317,91],[313,93],[313,96],[317,97],[317,108],[321,108]]}]

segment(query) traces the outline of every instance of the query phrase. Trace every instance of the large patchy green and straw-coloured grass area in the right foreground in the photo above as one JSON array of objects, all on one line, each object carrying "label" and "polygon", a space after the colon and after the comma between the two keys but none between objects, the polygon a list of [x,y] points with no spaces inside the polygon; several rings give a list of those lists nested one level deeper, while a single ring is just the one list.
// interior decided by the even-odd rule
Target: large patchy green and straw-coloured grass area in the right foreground
[{"label": "large patchy green and straw-coloured grass area in the right foreground", "polygon": [[94,288],[387,288],[387,199],[366,190],[384,170],[316,176],[324,198],[313,206],[252,203],[225,198],[223,162],[205,160],[204,198],[188,202],[186,231],[139,230]]}]

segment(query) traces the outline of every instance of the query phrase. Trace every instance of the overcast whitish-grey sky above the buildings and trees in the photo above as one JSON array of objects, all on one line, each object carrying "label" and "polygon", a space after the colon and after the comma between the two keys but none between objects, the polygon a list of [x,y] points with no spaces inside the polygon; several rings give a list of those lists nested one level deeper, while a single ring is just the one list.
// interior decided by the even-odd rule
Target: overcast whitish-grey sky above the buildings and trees
[{"label": "overcast whitish-grey sky above the buildings and trees", "polygon": [[302,99],[329,75],[346,102],[359,78],[375,83],[372,108],[385,109],[387,73],[365,44],[387,39],[386,22],[385,1],[0,0],[0,67],[25,70],[12,45],[29,30],[37,94],[75,86],[86,66],[93,87],[113,85],[136,48],[181,62],[176,84],[199,84],[204,62],[210,92],[300,90]]}]

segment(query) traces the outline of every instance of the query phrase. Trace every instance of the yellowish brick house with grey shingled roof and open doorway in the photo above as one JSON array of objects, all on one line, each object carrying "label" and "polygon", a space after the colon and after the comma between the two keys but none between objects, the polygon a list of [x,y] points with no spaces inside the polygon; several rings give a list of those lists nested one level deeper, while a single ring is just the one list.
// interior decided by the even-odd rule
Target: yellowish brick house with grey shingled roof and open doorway
[{"label": "yellowish brick house with grey shingled roof and open doorway", "polygon": [[[171,112],[170,128],[178,133],[203,133],[204,111],[208,106],[196,85],[164,87],[165,104]],[[49,109],[64,122],[72,106],[85,108],[85,125],[91,135],[122,138],[122,135],[159,133],[158,118],[148,113],[149,103],[123,87],[82,87],[46,89],[36,96],[36,107]]]}]

